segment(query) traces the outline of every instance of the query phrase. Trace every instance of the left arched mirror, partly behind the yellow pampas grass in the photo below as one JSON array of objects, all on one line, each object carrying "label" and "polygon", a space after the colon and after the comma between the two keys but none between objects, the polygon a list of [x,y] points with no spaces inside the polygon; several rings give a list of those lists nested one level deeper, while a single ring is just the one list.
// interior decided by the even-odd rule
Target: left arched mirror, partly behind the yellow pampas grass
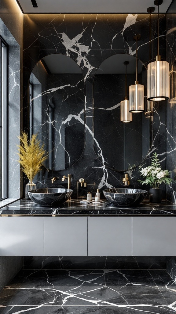
[{"label": "left arched mirror, partly behind the yellow pampas grass", "polygon": [[30,134],[38,133],[49,158],[48,169],[72,166],[85,146],[84,76],[62,54],[41,59],[29,79]]}]

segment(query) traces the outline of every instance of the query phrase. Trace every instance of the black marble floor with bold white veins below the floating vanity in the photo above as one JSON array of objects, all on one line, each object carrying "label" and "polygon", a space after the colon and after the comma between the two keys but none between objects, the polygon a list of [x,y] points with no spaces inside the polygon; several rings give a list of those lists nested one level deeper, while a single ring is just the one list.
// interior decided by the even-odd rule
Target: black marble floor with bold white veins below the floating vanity
[{"label": "black marble floor with bold white veins below the floating vanity", "polygon": [[0,313],[176,313],[176,284],[166,270],[22,270]]}]

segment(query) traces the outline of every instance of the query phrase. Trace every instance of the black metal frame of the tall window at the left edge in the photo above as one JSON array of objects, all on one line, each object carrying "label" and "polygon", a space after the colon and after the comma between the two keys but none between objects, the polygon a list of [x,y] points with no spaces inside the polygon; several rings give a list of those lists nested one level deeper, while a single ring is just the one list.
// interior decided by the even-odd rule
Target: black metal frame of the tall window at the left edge
[{"label": "black metal frame of the tall window at the left edge", "polygon": [[[2,67],[3,47],[6,48],[5,67]],[[8,198],[8,64],[8,44],[0,36],[0,201]],[[2,71],[4,69],[6,76],[5,82],[2,77]],[[3,92],[5,94],[5,101],[2,98]],[[4,108],[5,111],[3,111]],[[5,119],[3,119],[2,115],[5,116]],[[3,162],[5,163],[5,166]],[[5,169],[3,169],[4,167]]]}]

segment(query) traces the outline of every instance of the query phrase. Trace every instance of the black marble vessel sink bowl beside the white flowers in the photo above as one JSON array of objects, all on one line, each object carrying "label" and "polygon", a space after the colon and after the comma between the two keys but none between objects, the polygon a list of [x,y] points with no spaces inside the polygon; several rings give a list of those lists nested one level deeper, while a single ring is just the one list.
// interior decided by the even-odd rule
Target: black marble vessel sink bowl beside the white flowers
[{"label": "black marble vessel sink bowl beside the white flowers", "polygon": [[147,191],[139,189],[119,188],[103,191],[110,203],[117,206],[137,206],[147,196]]}]

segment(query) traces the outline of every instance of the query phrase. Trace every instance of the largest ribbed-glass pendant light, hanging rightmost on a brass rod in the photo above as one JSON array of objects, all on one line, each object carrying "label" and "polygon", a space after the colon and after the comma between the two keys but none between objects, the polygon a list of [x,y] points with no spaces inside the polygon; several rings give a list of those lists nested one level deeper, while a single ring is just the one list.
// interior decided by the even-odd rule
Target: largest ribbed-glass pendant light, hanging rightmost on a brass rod
[{"label": "largest ribbed-glass pendant light, hanging rightmost on a brass rod", "polygon": [[158,55],[156,61],[148,64],[147,99],[151,101],[169,99],[169,63],[161,61],[159,55],[159,5],[162,3],[163,0],[154,1],[158,6]]}]

